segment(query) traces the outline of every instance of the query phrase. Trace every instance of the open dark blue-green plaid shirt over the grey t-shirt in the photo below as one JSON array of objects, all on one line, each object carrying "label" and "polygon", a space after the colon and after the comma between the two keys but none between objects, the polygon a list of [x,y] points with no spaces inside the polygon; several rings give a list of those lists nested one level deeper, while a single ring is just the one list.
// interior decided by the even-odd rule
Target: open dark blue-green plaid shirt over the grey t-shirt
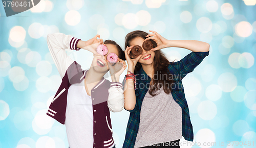
[{"label": "open dark blue-green plaid shirt over the grey t-shirt", "polygon": [[[208,55],[209,51],[191,52],[180,61],[174,63],[170,62],[170,64],[168,65],[168,70],[170,73],[173,74],[173,79],[176,81],[176,86],[172,90],[172,95],[174,100],[180,105],[182,109],[182,136],[185,138],[185,140],[188,141],[193,141],[194,134],[181,80],[186,76],[187,73],[192,72],[197,67],[197,65],[199,65]],[[139,130],[140,110],[142,106],[142,101],[150,85],[151,78],[147,76],[146,72],[141,67],[141,69],[136,73],[136,81],[136,105],[133,110],[130,110],[130,117],[127,124],[125,139],[123,143],[123,147],[125,148],[134,147],[136,136]],[[123,86],[124,82],[125,79],[123,81]],[[143,88],[143,86],[145,87]]]}]

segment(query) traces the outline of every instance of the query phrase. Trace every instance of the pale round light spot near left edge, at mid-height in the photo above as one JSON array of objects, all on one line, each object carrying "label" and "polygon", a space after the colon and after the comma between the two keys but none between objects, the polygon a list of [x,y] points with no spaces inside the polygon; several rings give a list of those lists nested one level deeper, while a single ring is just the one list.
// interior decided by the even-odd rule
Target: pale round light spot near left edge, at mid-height
[{"label": "pale round light spot near left edge, at mid-height", "polygon": [[21,82],[25,78],[25,71],[22,67],[14,66],[9,71],[9,78],[14,83]]}]

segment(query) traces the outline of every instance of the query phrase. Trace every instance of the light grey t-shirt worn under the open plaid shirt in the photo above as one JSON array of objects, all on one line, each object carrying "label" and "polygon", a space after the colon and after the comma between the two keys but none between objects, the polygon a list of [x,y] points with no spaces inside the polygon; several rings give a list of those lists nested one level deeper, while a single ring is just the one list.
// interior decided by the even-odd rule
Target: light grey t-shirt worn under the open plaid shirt
[{"label": "light grey t-shirt worn under the open plaid shirt", "polygon": [[166,94],[163,87],[155,96],[149,91],[142,102],[135,148],[182,138],[181,107],[174,101],[172,93]]}]

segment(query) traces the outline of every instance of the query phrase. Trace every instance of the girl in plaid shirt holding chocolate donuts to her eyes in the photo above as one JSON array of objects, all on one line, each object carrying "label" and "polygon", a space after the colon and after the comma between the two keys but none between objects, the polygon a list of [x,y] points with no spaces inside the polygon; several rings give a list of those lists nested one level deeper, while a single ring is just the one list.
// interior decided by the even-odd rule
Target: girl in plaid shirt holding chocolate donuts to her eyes
[{"label": "girl in plaid shirt holding chocolate donuts to her eyes", "polygon": [[[133,31],[125,37],[128,71],[123,84],[124,108],[130,111],[130,118],[123,147],[180,147],[182,136],[188,141],[194,138],[181,80],[208,56],[209,44],[167,40],[155,31],[150,32]],[[153,48],[143,49],[141,55],[131,59],[133,46],[142,47],[146,40],[152,41]],[[160,51],[166,47],[192,52],[180,61],[169,62]]]}]

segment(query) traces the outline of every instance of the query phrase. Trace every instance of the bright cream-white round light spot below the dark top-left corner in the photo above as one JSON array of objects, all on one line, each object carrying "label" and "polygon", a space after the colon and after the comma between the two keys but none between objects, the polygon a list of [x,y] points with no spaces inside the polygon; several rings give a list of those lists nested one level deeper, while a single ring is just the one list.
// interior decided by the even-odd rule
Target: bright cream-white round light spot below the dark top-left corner
[{"label": "bright cream-white round light spot below the dark top-left corner", "polygon": [[9,37],[14,42],[24,41],[26,37],[26,31],[21,26],[15,26],[11,29]]}]

